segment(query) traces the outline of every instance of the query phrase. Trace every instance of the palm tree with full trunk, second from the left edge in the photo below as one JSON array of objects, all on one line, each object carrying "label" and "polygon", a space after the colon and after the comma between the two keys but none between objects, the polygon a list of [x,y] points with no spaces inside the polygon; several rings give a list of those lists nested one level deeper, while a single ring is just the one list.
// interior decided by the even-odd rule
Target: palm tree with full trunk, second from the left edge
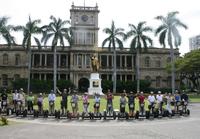
[{"label": "palm tree with full trunk, second from the left edge", "polygon": [[41,34],[41,28],[38,27],[38,24],[40,24],[41,20],[31,20],[31,17],[29,16],[29,20],[26,23],[25,26],[17,26],[16,30],[20,30],[23,32],[23,41],[22,46],[26,49],[26,52],[28,53],[28,87],[27,92],[30,92],[30,72],[31,72],[31,46],[32,46],[32,38],[34,38],[34,41],[36,42],[37,46],[40,48],[40,41],[38,38],[34,37],[33,35]]}]

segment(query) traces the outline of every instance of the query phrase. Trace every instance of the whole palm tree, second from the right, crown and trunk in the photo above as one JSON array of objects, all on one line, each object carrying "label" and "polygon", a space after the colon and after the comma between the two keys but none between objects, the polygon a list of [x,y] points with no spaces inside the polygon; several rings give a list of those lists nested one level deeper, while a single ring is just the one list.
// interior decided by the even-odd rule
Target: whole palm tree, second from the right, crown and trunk
[{"label": "whole palm tree, second from the right, crown and trunk", "polygon": [[140,51],[142,48],[145,50],[148,47],[148,43],[152,45],[152,39],[145,35],[147,32],[152,32],[152,28],[149,26],[145,26],[146,22],[139,22],[137,26],[133,24],[129,24],[130,31],[127,32],[125,39],[131,39],[130,50],[136,50],[136,68],[137,68],[137,92],[140,91]]}]

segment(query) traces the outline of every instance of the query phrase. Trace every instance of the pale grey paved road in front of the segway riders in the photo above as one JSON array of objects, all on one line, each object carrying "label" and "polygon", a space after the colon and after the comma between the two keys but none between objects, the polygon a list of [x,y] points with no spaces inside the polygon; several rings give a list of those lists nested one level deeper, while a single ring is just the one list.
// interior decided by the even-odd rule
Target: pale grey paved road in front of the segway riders
[{"label": "pale grey paved road in front of the segway riders", "polygon": [[68,121],[12,119],[0,127],[0,139],[199,139],[200,104],[191,104],[191,116],[133,121]]}]

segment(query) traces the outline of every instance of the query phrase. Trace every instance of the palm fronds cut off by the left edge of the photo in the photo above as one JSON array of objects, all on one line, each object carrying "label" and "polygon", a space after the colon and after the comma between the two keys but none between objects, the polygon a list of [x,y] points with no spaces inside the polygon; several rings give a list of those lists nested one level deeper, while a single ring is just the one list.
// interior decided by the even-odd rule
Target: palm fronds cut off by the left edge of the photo
[{"label": "palm fronds cut off by the left edge of the photo", "polygon": [[12,44],[15,44],[15,40],[10,34],[14,26],[7,25],[8,19],[8,17],[0,17],[0,37],[2,37],[10,47]]}]

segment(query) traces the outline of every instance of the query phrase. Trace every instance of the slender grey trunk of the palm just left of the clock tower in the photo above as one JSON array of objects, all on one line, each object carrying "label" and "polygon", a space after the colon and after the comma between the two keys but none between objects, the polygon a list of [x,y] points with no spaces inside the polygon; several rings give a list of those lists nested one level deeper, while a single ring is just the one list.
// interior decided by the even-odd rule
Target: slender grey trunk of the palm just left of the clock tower
[{"label": "slender grey trunk of the palm just left of the clock tower", "polygon": [[54,53],[53,53],[53,91],[56,93],[56,83],[57,83],[57,54],[56,54],[56,47],[54,47]]}]

